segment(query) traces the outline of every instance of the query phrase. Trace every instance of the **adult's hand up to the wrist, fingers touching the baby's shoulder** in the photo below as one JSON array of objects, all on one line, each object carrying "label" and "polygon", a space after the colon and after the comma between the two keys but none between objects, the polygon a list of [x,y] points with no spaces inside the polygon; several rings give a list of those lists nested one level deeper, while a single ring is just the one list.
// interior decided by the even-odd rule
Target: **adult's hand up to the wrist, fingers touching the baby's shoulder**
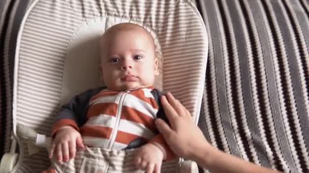
[{"label": "adult's hand up to the wrist, fingers touching the baby's shoulder", "polygon": [[161,102],[170,126],[158,118],[155,121],[157,128],[177,156],[194,160],[197,151],[204,150],[210,144],[195,125],[190,112],[171,93],[162,96]]}]

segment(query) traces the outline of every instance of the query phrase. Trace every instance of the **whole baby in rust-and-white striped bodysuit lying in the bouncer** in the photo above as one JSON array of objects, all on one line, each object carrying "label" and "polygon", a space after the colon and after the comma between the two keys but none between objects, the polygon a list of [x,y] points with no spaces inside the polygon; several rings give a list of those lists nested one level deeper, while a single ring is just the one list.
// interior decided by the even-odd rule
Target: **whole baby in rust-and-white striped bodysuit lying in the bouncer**
[{"label": "whole baby in rust-and-white striped bodysuit lying in the bouncer", "polygon": [[120,23],[100,43],[106,88],[88,90],[61,107],[49,157],[67,162],[84,145],[122,150],[145,144],[135,158],[137,169],[160,172],[162,161],[174,155],[154,124],[165,114],[153,87],[159,70],[152,36],[139,25]]}]

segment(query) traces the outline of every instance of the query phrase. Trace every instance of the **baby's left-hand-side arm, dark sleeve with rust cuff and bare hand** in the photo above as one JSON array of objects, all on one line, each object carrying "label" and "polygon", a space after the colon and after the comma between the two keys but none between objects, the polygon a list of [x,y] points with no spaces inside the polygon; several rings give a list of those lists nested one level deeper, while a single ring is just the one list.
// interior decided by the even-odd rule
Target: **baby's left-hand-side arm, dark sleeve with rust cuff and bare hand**
[{"label": "baby's left-hand-side arm, dark sleeve with rust cuff and bare hand", "polygon": [[74,96],[62,106],[52,127],[53,143],[49,148],[49,157],[56,155],[58,161],[69,161],[75,157],[76,147],[83,147],[79,127],[85,123],[89,100],[103,88],[90,89]]}]

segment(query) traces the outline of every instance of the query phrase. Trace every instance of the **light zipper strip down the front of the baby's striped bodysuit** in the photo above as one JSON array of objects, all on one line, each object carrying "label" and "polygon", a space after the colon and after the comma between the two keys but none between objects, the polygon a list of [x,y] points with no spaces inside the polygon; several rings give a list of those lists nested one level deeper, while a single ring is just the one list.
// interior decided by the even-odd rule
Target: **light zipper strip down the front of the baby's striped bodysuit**
[{"label": "light zipper strip down the front of the baby's striped bodysuit", "polygon": [[110,141],[109,141],[109,144],[108,144],[108,147],[107,147],[108,149],[112,149],[112,147],[115,143],[119,124],[120,124],[120,117],[121,117],[121,112],[122,112],[121,110],[122,110],[123,101],[125,100],[126,95],[128,93],[130,93],[130,91],[127,91],[127,92],[120,95],[120,99],[119,99],[119,102],[118,102],[117,114],[116,114],[116,122],[115,122],[115,126],[113,128],[113,132],[111,134]]}]

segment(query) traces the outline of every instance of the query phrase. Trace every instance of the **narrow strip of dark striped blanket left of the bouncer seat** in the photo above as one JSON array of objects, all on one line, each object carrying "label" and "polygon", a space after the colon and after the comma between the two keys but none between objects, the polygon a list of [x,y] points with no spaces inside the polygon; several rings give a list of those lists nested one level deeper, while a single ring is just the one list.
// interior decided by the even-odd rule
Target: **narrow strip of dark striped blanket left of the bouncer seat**
[{"label": "narrow strip of dark striped blanket left of the bouncer seat", "polygon": [[17,32],[31,0],[0,1],[0,158],[9,152]]}]

